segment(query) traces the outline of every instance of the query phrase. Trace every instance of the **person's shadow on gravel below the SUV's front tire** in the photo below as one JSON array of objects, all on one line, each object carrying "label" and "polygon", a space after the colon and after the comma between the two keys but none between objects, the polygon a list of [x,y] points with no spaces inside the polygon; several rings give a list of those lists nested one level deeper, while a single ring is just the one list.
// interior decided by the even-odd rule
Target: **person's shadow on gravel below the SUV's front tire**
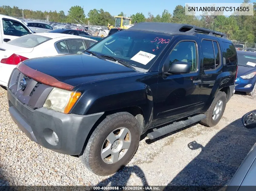
[{"label": "person's shadow on gravel below the SUV's front tire", "polygon": [[[99,182],[96,186],[126,186],[128,180],[130,177],[133,177],[134,174],[141,179],[141,183],[139,183],[139,180],[135,182],[135,185],[128,185],[128,186],[148,186],[147,179],[145,177],[144,172],[141,170],[140,167],[134,165],[132,167],[121,167],[121,170],[113,174],[111,177]],[[122,190],[122,188],[119,188],[119,190]]]}]

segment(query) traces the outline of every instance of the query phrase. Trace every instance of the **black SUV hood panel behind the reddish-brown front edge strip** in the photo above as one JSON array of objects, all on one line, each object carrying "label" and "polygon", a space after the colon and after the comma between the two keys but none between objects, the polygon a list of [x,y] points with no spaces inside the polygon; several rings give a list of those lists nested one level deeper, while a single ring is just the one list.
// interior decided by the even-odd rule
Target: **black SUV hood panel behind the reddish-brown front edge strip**
[{"label": "black SUV hood panel behind the reddish-brown front edge strip", "polygon": [[137,73],[123,65],[84,54],[36,58],[23,63],[71,86]]}]

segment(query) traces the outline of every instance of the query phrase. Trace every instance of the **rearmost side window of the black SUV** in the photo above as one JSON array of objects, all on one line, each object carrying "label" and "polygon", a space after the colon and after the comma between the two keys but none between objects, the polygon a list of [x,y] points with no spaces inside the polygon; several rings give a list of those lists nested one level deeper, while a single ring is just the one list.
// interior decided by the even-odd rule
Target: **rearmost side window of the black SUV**
[{"label": "rearmost side window of the black SUV", "polygon": [[224,56],[226,58],[226,64],[228,65],[236,65],[237,63],[237,56],[236,56],[236,49],[233,44],[222,42],[223,49],[224,49]]}]

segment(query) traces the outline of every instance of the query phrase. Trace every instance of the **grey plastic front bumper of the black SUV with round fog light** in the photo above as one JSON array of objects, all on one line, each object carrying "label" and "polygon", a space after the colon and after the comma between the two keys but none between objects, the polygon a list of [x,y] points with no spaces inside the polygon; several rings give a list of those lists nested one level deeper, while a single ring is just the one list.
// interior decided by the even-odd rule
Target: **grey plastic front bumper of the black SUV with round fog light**
[{"label": "grey plastic front bumper of the black SUV with round fog light", "polygon": [[62,154],[80,154],[91,128],[104,113],[82,116],[44,107],[33,110],[21,103],[10,90],[7,96],[12,119],[28,138]]}]

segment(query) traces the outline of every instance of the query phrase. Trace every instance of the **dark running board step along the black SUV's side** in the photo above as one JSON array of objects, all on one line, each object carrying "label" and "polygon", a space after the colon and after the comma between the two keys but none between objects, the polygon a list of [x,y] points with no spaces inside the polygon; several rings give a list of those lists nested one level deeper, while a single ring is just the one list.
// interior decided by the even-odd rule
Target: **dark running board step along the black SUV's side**
[{"label": "dark running board step along the black SUV's side", "polygon": [[170,132],[176,131],[176,130],[181,129],[185,126],[188,126],[188,125],[191,125],[191,124],[196,123],[198,121],[201,121],[202,119],[205,119],[205,118],[206,118],[206,115],[199,114],[199,115],[191,117],[191,118],[189,118],[185,121],[179,121],[179,122],[175,122],[175,123],[172,123],[170,125],[161,127],[159,129],[151,132],[151,133],[148,133],[147,136],[148,136],[149,139],[158,138],[162,135],[165,135],[165,134],[168,134]]}]

